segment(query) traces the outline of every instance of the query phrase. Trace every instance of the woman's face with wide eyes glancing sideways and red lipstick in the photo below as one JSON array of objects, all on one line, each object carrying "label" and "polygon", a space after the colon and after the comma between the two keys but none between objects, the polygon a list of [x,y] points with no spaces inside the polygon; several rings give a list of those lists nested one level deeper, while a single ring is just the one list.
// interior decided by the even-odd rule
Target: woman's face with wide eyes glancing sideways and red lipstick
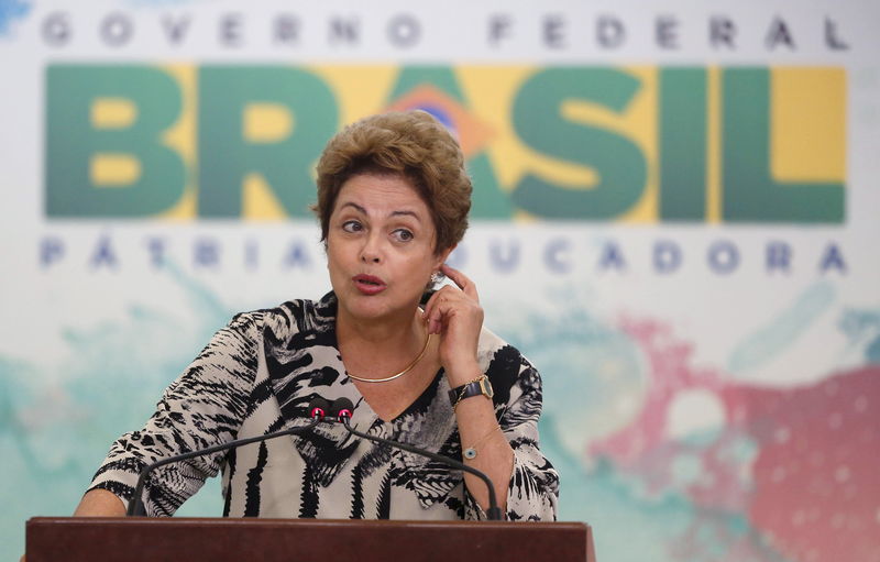
[{"label": "woman's face with wide eyes glancing sideways and red lipstick", "polygon": [[397,175],[359,174],[342,185],[327,234],[327,266],[340,316],[408,317],[431,273],[437,231],[425,201]]}]

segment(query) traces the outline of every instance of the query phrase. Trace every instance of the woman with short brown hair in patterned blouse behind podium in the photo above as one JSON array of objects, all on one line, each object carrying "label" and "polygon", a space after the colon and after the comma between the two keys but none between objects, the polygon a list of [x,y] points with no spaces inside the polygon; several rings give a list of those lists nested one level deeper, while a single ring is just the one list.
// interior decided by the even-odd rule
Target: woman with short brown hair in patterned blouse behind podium
[{"label": "woman with short brown hair in patterned blouse behind podium", "polygon": [[[485,472],[508,519],[554,519],[559,480],[538,450],[540,377],[482,327],[474,284],[444,264],[470,197],[461,150],[428,113],[366,118],[333,137],[315,207],[332,293],[238,315],[146,427],[112,445],[76,515],[121,516],[150,462],[305,425],[319,396],[351,399],[362,431]],[[426,294],[441,274],[455,287]],[[485,517],[488,494],[470,474],[329,423],[292,439],[157,470],[147,514],[172,515],[222,471],[227,516]]]}]

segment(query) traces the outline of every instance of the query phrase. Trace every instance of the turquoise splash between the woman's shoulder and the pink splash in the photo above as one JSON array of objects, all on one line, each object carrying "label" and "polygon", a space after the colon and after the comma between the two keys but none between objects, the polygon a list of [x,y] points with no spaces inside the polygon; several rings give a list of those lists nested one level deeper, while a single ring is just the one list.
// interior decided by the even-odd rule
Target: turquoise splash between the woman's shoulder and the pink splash
[{"label": "turquoise splash between the woman's shoulder and the pink splash", "polygon": [[[648,389],[648,367],[638,344],[591,315],[588,299],[579,293],[557,288],[551,307],[525,309],[522,318],[502,315],[507,321],[501,335],[542,375],[541,450],[560,473],[560,519],[592,526],[600,560],[708,562],[745,542],[758,560],[785,562],[761,542],[747,514],[703,507],[689,497],[688,484],[702,477],[697,452],[716,442],[716,431],[694,436],[693,453],[673,464],[675,482],[660,493],[648,492],[650,475],[587,454],[594,439],[632,422]],[[484,306],[487,318],[490,308],[504,310],[501,302]],[[622,398],[634,400],[635,408],[622,409]],[[755,444],[732,442],[724,454],[743,465],[754,458]]]}]

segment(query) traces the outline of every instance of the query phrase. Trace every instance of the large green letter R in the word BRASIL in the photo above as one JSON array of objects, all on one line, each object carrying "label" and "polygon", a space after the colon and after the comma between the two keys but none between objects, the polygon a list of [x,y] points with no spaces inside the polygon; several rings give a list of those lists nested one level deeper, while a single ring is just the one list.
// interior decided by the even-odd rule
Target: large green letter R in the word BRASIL
[{"label": "large green letter R in the word BRASIL", "polygon": [[[249,104],[285,108],[293,131],[283,139],[249,143]],[[336,132],[339,115],[330,88],[316,75],[272,66],[207,66],[199,70],[199,216],[240,217],[248,174],[258,173],[294,217],[315,201],[312,167]]]}]

